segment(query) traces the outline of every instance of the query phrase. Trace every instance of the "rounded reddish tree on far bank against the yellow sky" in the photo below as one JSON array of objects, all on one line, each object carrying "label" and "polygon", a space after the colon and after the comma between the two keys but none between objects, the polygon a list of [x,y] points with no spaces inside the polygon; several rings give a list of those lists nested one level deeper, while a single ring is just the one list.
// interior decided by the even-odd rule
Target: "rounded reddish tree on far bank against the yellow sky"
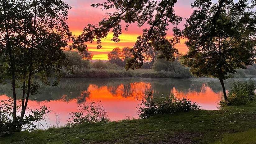
[{"label": "rounded reddish tree on far bank against the yellow sky", "polygon": [[108,61],[112,64],[116,64],[118,66],[124,67],[126,61],[133,57],[132,53],[130,52],[130,47],[114,48],[111,52],[107,55]]}]

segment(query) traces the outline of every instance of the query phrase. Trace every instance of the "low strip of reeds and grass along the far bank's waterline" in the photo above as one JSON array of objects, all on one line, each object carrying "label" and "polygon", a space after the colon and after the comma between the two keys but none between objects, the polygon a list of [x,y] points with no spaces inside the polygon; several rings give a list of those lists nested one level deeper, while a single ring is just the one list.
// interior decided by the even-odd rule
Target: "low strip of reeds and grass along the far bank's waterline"
[{"label": "low strip of reeds and grass along the far bank's waterline", "polygon": [[143,77],[143,78],[189,78],[191,75],[169,71],[154,71],[152,69],[125,70],[122,69],[98,69],[73,67],[72,71],[62,70],[62,77],[66,78],[120,78],[120,77]]}]

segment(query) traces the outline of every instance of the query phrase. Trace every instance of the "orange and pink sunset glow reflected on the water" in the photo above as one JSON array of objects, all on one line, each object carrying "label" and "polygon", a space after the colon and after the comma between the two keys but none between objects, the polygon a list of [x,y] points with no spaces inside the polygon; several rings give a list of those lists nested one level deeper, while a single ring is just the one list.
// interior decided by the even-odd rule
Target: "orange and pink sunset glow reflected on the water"
[{"label": "orange and pink sunset glow reflected on the water", "polygon": [[[160,88],[163,88],[161,86]],[[168,87],[168,86],[167,86]],[[155,88],[155,89],[154,89]],[[80,92],[76,98],[67,100],[67,95],[62,95],[61,99],[50,101],[33,101],[28,102],[30,109],[38,109],[40,106],[45,105],[49,107],[53,112],[49,114],[49,121],[52,124],[56,123],[56,115],[58,115],[61,125],[65,125],[69,118],[69,112],[77,111],[77,106],[81,102],[101,101],[105,110],[109,114],[110,120],[126,119],[126,116],[138,118],[136,114],[136,107],[142,99],[144,99],[145,93],[151,91],[160,91],[153,87],[150,82],[133,82],[122,83],[117,85],[96,85],[90,84],[86,90]],[[186,89],[184,91],[177,90],[174,86],[169,88],[169,93],[174,93],[176,97],[186,97],[193,102],[199,103],[202,109],[216,110],[217,102],[221,99],[221,92],[213,92],[213,90],[205,84],[202,84],[199,90]],[[47,97],[47,95],[45,95]],[[0,96],[2,99],[8,99],[7,96]]]}]

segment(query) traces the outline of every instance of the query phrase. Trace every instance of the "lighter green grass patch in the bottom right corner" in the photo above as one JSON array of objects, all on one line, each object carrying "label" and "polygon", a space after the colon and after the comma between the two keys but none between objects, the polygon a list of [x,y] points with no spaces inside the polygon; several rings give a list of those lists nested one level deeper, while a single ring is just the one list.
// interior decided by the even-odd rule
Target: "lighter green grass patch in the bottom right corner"
[{"label": "lighter green grass patch in the bottom right corner", "polygon": [[256,143],[256,129],[252,129],[240,133],[226,134],[221,141],[213,144],[255,144]]}]

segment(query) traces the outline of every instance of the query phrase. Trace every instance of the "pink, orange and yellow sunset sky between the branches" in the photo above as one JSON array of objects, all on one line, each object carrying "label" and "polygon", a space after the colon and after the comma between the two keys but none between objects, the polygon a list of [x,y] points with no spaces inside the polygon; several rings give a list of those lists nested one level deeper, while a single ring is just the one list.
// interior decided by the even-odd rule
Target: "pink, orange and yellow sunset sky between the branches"
[{"label": "pink, orange and yellow sunset sky between the branches", "polygon": [[[69,18],[67,22],[69,23],[69,28],[72,32],[72,34],[75,34],[76,36],[81,34],[83,31],[83,28],[88,24],[98,24],[98,22],[105,17],[106,11],[102,11],[100,8],[93,8],[90,5],[92,3],[97,2],[105,2],[106,0],[64,0],[67,2],[72,9],[69,10]],[[190,8],[190,4],[194,0],[180,0],[176,3],[174,10],[176,12],[176,15],[182,16],[183,18],[189,18],[189,16],[192,14],[193,9]],[[185,24],[185,19],[183,19],[183,22],[179,25],[180,28],[183,28]],[[123,23],[122,26],[125,26]],[[133,45],[136,42],[137,36],[142,34],[142,30],[145,28],[145,26],[138,28],[136,24],[130,25],[128,28],[128,31],[124,30],[123,27],[123,33],[120,36],[121,41],[118,43],[112,42],[110,39],[112,39],[112,33],[110,33],[106,39],[102,40],[102,48],[98,49],[96,48],[96,43],[88,43],[89,51],[92,52],[94,55],[93,59],[101,59],[101,60],[107,60],[107,54],[111,52],[115,47],[133,47]],[[171,28],[167,31],[167,37],[171,37]],[[176,48],[178,48],[180,53],[187,52],[187,48],[184,44],[185,39],[181,39],[181,44],[176,45]]]}]

